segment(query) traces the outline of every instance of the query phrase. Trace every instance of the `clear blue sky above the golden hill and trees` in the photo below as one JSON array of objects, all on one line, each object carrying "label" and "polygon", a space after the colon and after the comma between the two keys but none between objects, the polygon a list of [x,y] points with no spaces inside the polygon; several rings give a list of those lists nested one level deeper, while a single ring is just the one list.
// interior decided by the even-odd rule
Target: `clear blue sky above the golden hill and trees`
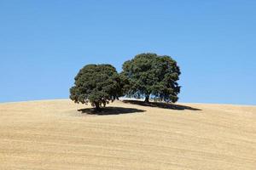
[{"label": "clear blue sky above the golden hill and trees", "polygon": [[256,1],[0,0],[0,102],[68,98],[83,65],[143,52],[181,67],[180,102],[256,105]]}]

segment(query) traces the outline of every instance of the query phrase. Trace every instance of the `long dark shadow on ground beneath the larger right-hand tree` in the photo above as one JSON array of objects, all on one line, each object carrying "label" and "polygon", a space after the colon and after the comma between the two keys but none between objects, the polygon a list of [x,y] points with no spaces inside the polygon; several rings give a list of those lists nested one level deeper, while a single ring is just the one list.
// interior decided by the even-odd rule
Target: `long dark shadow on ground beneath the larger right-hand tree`
[{"label": "long dark shadow on ground beneath the larger right-hand tree", "polygon": [[161,103],[161,102],[145,103],[145,102],[139,101],[139,100],[128,100],[128,99],[124,99],[123,102],[124,103],[133,104],[133,105],[143,105],[143,106],[149,106],[149,107],[159,107],[159,108],[172,109],[172,110],[201,111],[201,109],[197,109],[197,108],[190,107],[190,106],[187,106],[187,105],[176,105],[176,104],[168,104],[168,103]]}]

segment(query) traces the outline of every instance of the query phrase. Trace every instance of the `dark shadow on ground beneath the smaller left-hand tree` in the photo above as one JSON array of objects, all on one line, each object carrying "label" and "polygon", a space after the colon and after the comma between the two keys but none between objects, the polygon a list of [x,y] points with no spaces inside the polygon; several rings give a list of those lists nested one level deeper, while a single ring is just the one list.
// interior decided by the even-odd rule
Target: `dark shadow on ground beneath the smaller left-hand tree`
[{"label": "dark shadow on ground beneath the smaller left-hand tree", "polygon": [[126,108],[126,107],[105,107],[102,108],[101,111],[94,111],[92,108],[79,109],[82,113],[89,115],[120,115],[120,114],[128,114],[128,113],[138,113],[144,112],[143,110],[134,109],[134,108]]}]

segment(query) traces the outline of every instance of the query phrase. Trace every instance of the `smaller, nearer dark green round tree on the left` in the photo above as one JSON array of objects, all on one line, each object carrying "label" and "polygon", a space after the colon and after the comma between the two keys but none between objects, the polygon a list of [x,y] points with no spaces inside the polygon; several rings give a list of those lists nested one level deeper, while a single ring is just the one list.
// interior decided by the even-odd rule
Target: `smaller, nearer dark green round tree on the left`
[{"label": "smaller, nearer dark green round tree on the left", "polygon": [[125,84],[112,65],[85,65],[74,78],[70,99],[75,103],[90,102],[99,111],[103,106],[123,94]]}]

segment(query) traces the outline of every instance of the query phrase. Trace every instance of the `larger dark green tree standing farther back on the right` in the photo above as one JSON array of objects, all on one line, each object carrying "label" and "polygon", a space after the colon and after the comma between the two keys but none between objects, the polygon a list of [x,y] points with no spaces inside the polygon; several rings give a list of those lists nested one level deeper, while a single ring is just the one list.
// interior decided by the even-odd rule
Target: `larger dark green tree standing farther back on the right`
[{"label": "larger dark green tree standing farther back on the right", "polygon": [[121,75],[130,82],[128,96],[149,97],[165,102],[177,102],[180,86],[177,81],[181,74],[177,62],[170,56],[157,54],[138,54],[125,61]]}]

